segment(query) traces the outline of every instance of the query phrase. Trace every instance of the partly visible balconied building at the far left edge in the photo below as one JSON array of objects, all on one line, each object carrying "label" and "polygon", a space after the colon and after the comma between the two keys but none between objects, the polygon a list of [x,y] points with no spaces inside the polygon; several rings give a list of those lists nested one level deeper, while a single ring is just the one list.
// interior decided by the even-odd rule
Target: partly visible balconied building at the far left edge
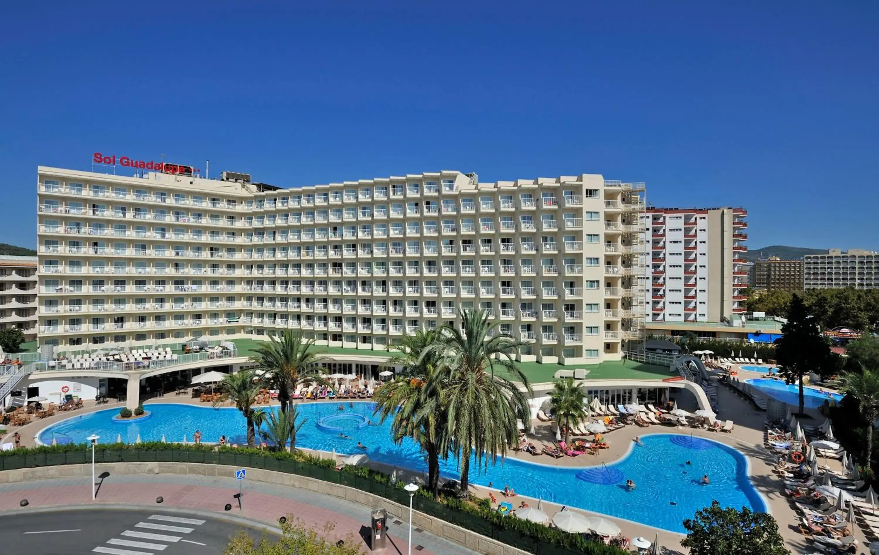
[{"label": "partly visible balconied building at the far left edge", "polygon": [[37,257],[0,256],[0,329],[37,338]]}]

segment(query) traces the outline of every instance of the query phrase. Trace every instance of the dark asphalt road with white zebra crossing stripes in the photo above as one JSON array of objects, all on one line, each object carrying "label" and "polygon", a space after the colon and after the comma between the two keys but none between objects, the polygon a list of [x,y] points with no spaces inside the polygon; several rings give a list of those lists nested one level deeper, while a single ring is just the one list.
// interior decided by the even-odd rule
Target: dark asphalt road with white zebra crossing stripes
[{"label": "dark asphalt road with white zebra crossing stripes", "polygon": [[[65,555],[216,555],[243,526],[161,510],[82,509],[0,518],[7,553]],[[260,530],[248,530],[254,537]]]}]

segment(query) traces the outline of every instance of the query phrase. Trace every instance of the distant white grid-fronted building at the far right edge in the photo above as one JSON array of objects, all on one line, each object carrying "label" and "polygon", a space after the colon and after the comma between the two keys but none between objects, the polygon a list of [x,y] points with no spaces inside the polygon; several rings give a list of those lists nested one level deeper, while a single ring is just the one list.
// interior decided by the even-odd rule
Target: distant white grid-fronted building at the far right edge
[{"label": "distant white grid-fronted building at the far right edge", "polygon": [[803,256],[804,289],[879,288],[879,251],[830,249]]}]

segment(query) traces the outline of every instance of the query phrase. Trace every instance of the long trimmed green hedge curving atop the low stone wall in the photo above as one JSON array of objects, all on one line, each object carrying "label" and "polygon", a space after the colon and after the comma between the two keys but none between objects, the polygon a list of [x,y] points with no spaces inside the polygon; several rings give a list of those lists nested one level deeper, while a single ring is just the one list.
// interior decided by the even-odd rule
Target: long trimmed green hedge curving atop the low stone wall
[{"label": "long trimmed green hedge curving atop the low stone wall", "polygon": [[[53,465],[84,465],[91,462],[89,444],[66,443],[34,448],[0,451],[0,471]],[[345,466],[342,472],[333,461],[296,451],[267,451],[254,448],[218,448],[213,445],[178,443],[98,444],[96,463],[199,463],[258,468],[287,472],[353,487],[401,505],[409,504],[403,483],[392,483],[388,474],[361,466]],[[622,551],[583,536],[569,534],[542,524],[500,515],[485,501],[461,501],[454,497],[439,500],[418,490],[413,508],[447,523],[512,545],[522,551],[540,555],[621,555]],[[478,517],[478,518],[475,518]]]}]

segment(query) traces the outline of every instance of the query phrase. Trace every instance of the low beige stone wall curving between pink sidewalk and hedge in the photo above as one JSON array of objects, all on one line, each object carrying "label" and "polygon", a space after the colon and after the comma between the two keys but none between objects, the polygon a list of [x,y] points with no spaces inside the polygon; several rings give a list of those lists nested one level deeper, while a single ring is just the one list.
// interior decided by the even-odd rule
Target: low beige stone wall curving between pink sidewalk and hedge
[{"label": "low beige stone wall curving between pink sidewalk and hedge", "polygon": [[[95,472],[110,472],[113,474],[183,474],[194,476],[216,476],[220,478],[235,478],[235,466],[224,465],[200,465],[196,463],[107,463],[95,465]],[[37,479],[69,478],[76,476],[91,476],[91,465],[60,465],[41,466],[40,468],[21,468],[0,472],[0,483],[25,482]],[[247,469],[247,479],[251,481],[275,484],[278,486],[300,487],[323,495],[331,495],[354,503],[360,503],[368,508],[383,507],[390,514],[402,519],[409,514],[409,507],[389,501],[383,497],[361,492],[352,487],[340,486],[319,479],[307,478],[287,472],[273,472],[258,468]],[[278,515],[279,517],[281,515]],[[468,549],[487,555],[526,555],[527,551],[521,551],[510,545],[501,544],[490,537],[484,537],[475,532],[464,530],[454,524],[425,515],[415,511],[412,514],[412,523],[418,528],[427,530],[432,534],[444,537],[456,544],[461,544]],[[367,524],[367,523],[365,523]]]}]

